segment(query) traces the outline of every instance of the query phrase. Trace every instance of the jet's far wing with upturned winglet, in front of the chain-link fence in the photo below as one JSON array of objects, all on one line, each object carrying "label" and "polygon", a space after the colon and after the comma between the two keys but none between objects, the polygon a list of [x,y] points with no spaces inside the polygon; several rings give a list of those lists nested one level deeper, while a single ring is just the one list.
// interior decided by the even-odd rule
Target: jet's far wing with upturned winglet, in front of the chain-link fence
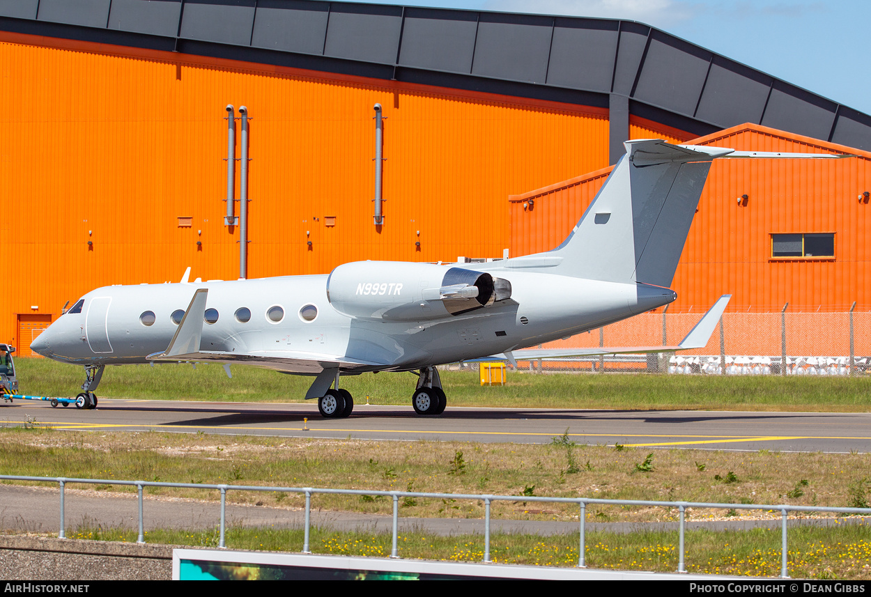
[{"label": "jet's far wing with upturned winglet, in front of the chain-link fence", "polygon": [[721,296],[713,306],[708,309],[699,323],[696,324],[685,338],[677,345],[655,345],[655,346],[598,346],[596,348],[525,348],[519,351],[505,352],[503,354],[495,354],[483,359],[469,359],[464,363],[478,363],[483,361],[498,361],[507,360],[512,365],[517,364],[517,360],[530,359],[556,359],[560,357],[598,357],[605,354],[631,354],[633,352],[674,352],[685,351],[692,348],[703,348],[707,345],[711,334],[719,323],[719,318],[726,310],[726,305],[729,304],[731,294]]}]

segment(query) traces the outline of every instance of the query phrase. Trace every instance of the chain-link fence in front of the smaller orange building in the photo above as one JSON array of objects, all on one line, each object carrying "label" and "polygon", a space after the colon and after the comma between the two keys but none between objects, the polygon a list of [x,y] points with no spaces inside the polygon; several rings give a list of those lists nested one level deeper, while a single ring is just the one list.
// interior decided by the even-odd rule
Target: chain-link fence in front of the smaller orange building
[{"label": "chain-link fence in front of the smaller orange building", "polygon": [[[595,348],[676,345],[702,312],[649,312],[541,345]],[[509,366],[510,367],[510,366]],[[871,305],[847,311],[781,309],[723,314],[704,348],[691,351],[517,361],[530,372],[665,372],[719,375],[871,374]]]}]

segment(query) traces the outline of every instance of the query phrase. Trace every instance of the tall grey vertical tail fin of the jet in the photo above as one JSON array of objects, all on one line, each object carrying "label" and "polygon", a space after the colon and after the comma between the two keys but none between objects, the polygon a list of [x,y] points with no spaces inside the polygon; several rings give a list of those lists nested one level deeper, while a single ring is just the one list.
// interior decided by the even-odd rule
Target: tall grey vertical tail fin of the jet
[{"label": "tall grey vertical tail fin of the jet", "polygon": [[627,141],[626,154],[581,221],[550,254],[559,273],[672,285],[713,158],[731,149]]}]

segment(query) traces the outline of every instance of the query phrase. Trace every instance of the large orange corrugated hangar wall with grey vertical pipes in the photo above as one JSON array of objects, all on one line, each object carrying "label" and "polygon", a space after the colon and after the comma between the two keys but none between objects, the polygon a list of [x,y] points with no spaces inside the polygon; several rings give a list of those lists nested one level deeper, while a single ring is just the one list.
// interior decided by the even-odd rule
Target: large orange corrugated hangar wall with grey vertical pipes
[{"label": "large orange corrugated hangar wall with grey vertical pipes", "polygon": [[251,117],[248,278],[502,257],[506,196],[608,164],[600,108],[13,33],[0,64],[0,338],[19,354],[28,316],[56,319],[95,287],[178,281],[188,265],[239,276],[226,104]]}]

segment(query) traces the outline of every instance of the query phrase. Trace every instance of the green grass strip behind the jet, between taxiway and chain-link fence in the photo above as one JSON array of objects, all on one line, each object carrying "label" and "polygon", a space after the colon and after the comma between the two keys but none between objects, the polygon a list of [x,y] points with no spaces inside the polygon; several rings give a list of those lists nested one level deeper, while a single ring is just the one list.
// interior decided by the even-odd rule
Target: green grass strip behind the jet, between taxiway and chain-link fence
[{"label": "green grass strip behind the jet, between taxiway and chain-link fence", "polygon": [[[75,396],[82,368],[47,359],[17,359],[23,393]],[[217,365],[111,366],[100,398],[302,402],[310,377],[233,366],[227,379]],[[408,405],[416,378],[409,373],[346,376],[354,399]],[[867,412],[871,376],[780,377],[508,372],[505,386],[480,386],[476,371],[442,372],[449,406],[606,409],[710,409]]]}]

